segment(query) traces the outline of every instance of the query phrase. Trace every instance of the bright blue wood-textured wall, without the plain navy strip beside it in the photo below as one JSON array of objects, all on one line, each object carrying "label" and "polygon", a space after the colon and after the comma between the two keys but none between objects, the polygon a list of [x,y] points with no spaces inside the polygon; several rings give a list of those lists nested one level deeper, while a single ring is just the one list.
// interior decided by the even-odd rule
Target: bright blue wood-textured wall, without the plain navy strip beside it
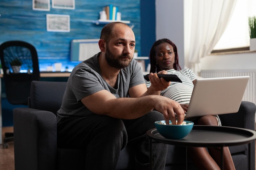
[{"label": "bright blue wood-textured wall, without the plain navy strip beside it", "polygon": [[[0,44],[8,40],[24,40],[36,47],[40,70],[54,62],[72,67],[79,62],[70,61],[70,42],[73,39],[99,38],[104,25],[92,22],[99,19],[99,11],[108,4],[119,7],[122,20],[134,25],[136,49],[140,51],[140,0],[75,0],[75,9],[36,11],[32,0],[0,1]],[[47,32],[46,14],[70,15],[70,32]]]}]

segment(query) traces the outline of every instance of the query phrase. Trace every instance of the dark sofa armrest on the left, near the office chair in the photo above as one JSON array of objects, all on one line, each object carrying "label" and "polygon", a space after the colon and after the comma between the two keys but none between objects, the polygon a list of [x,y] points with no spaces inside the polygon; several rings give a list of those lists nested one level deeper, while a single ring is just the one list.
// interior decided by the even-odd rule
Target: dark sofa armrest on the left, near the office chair
[{"label": "dark sofa armrest on the left, near the office chair", "polygon": [[56,169],[56,124],[52,112],[13,109],[15,170]]}]

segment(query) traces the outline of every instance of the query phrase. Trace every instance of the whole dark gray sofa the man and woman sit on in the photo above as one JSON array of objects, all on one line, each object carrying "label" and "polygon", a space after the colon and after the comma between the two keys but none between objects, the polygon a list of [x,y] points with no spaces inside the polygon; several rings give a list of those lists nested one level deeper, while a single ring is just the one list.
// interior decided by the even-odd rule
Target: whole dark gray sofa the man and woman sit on
[{"label": "whole dark gray sofa the man and woman sit on", "polygon": [[[58,148],[56,111],[61,106],[66,82],[31,83],[29,108],[13,110],[15,170],[84,170],[81,150]],[[238,113],[220,115],[223,126],[255,130],[256,106],[243,101]],[[248,169],[248,145],[230,147],[236,170]],[[255,170],[255,143],[252,142],[251,168]],[[185,148],[168,145],[166,170],[185,168]],[[117,170],[134,169],[133,149],[121,150]],[[189,170],[195,169],[189,161]]]}]

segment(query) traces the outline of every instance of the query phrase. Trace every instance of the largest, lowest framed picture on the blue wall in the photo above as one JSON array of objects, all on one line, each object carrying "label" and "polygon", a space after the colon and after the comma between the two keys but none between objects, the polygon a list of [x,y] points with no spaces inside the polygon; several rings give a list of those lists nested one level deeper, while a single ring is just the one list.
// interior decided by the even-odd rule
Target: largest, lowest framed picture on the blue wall
[{"label": "largest, lowest framed picture on the blue wall", "polygon": [[70,15],[46,15],[47,31],[70,32]]}]

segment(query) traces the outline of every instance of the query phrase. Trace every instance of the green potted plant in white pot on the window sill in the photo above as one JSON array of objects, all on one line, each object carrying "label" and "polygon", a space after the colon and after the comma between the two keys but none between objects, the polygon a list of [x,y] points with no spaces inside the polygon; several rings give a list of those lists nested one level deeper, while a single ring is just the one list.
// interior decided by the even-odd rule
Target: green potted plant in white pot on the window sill
[{"label": "green potted plant in white pot on the window sill", "polygon": [[249,17],[250,50],[256,50],[256,17]]}]

